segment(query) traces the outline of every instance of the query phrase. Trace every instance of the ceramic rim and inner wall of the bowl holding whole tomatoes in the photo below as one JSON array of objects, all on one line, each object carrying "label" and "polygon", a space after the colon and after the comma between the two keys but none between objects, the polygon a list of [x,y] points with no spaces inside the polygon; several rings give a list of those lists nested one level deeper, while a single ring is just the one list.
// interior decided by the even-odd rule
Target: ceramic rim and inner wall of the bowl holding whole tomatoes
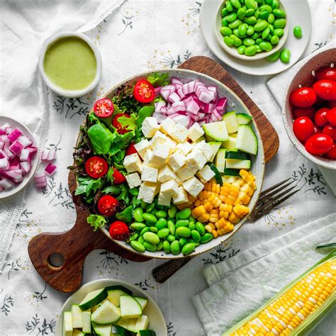
[{"label": "ceramic rim and inner wall of the bowl holding whole tomatoes", "polygon": [[[301,154],[306,157],[311,162],[320,165],[321,167],[327,169],[336,169],[336,161],[327,159],[325,157],[318,157],[315,155],[311,155],[306,151],[305,146],[298,141],[296,136],[293,133],[293,114],[291,111],[291,104],[289,103],[289,94],[293,89],[296,89],[298,84],[307,85],[308,82],[313,82],[313,75],[311,74],[311,69],[315,69],[316,67],[324,67],[326,65],[330,65],[332,62],[336,65],[335,59],[336,48],[328,49],[323,52],[320,52],[318,55],[310,58],[301,69],[296,72],[295,77],[293,77],[291,84],[286,89],[284,95],[284,101],[282,102],[282,120],[284,121],[284,126],[287,134],[289,135],[289,139],[293,143],[294,147],[301,152]],[[311,68],[311,69],[310,69]],[[296,83],[297,82],[297,83]],[[310,84],[309,84],[310,85]]]}]

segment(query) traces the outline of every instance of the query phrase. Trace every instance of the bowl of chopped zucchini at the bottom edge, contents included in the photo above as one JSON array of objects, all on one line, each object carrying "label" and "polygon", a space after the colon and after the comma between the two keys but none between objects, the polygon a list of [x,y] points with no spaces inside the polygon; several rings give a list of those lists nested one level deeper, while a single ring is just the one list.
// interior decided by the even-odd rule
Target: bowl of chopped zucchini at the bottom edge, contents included
[{"label": "bowl of chopped zucchini at the bottom edge, contents included", "polygon": [[57,336],[167,336],[159,306],[145,291],[117,279],[99,279],[70,296],[57,320]]}]

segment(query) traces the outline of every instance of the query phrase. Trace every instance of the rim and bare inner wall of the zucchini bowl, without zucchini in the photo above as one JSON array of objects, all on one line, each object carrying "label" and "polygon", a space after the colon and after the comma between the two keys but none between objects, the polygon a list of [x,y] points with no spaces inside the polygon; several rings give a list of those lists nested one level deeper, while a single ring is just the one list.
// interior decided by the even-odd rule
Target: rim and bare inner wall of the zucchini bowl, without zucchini
[{"label": "rim and bare inner wall of the zucchini bowl, without zucchini", "polygon": [[63,317],[64,313],[70,311],[72,305],[78,305],[85,298],[86,294],[91,291],[96,291],[98,289],[103,289],[108,286],[123,286],[129,291],[131,291],[133,296],[140,296],[142,298],[146,298],[148,300],[147,306],[145,306],[142,311],[143,315],[147,315],[149,320],[149,325],[147,329],[152,329],[155,331],[156,336],[167,336],[167,325],[164,320],[164,316],[162,315],[162,311],[160,310],[157,303],[155,303],[152,296],[150,296],[147,292],[143,291],[139,287],[130,284],[126,281],[118,280],[118,279],[97,279],[87,284],[84,284],[78,291],[72,294],[65,304],[62,306],[60,311],[60,315],[57,319],[55,335],[62,336],[63,329]]}]

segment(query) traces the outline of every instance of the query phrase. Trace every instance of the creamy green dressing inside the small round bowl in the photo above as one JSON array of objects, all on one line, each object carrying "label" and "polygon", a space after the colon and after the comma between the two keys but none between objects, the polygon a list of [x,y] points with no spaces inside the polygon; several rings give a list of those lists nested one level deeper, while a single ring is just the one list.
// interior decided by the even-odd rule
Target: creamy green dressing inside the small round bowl
[{"label": "creamy green dressing inside the small round bowl", "polygon": [[82,90],[96,77],[94,51],[82,38],[60,38],[47,47],[43,60],[52,84],[64,90]]}]

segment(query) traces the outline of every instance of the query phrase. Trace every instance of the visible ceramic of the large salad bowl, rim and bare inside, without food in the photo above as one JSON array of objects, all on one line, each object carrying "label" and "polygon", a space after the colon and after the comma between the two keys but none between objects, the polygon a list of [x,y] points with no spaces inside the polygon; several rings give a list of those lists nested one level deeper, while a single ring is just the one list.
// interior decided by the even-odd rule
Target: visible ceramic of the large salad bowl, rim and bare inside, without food
[{"label": "visible ceramic of the large salad bowl, rim and bare inside, without food", "polygon": [[[205,84],[206,86],[216,86],[217,91],[218,91],[218,97],[226,97],[228,101],[227,109],[226,111],[236,111],[237,113],[245,113],[250,115],[250,111],[247,109],[247,106],[245,106],[245,103],[242,102],[242,100],[233,92],[231,91],[227,86],[223,85],[222,83],[218,82],[217,80],[208,77],[205,74],[201,74],[198,72],[194,72],[191,70],[186,70],[186,69],[164,69],[164,70],[156,70],[153,72],[145,72],[142,74],[139,74],[138,76],[131,77],[129,79],[126,79],[125,81],[121,82],[120,84],[114,86],[110,91],[108,91],[108,94],[106,94],[106,98],[112,99],[113,96],[117,93],[118,88],[121,86],[125,85],[134,85],[135,82],[138,79],[146,79],[148,76],[151,74],[159,72],[159,73],[167,73],[169,74],[169,79],[170,78],[177,78],[181,80],[181,82],[186,83],[186,82],[191,82],[194,80],[198,80]],[[254,120],[251,121],[250,123],[252,130],[254,130],[254,133],[257,138],[257,145],[259,147],[259,150],[257,152],[257,155],[251,155],[252,158],[252,169],[251,172],[256,177],[255,183],[257,184],[257,190],[254,192],[250,203],[248,204],[248,207],[250,208],[250,211],[253,210],[255,204],[257,203],[257,199],[259,198],[259,193],[262,189],[262,181],[264,179],[264,150],[263,150],[263,145],[262,145],[262,140],[259,134],[259,130],[257,128],[257,124],[255,123]],[[79,141],[80,141],[79,137]],[[79,143],[79,142],[78,142]],[[78,146],[77,143],[77,146]],[[194,252],[191,252],[190,254],[184,255],[182,253],[179,254],[172,254],[172,253],[165,253],[163,250],[155,251],[155,252],[150,252],[150,251],[145,251],[145,252],[137,252],[133,250],[133,248],[130,246],[128,242],[121,241],[121,240],[113,240],[113,242],[116,242],[116,244],[121,245],[121,247],[130,250],[135,253],[142,254],[146,257],[154,257],[158,259],[179,259],[179,258],[184,258],[184,257],[192,257],[196,256],[198,254],[201,254],[203,252],[206,252],[208,250],[211,250],[213,247],[216,247],[217,245],[220,245],[221,242],[225,242],[225,240],[228,240],[230,237],[232,237],[237,230],[239,230],[243,223],[245,223],[245,220],[247,220],[248,215],[245,215],[239,223],[237,223],[234,227],[234,229],[225,235],[218,236],[217,238],[211,240],[210,242],[203,243],[201,245],[198,245],[196,247],[196,250]],[[111,238],[111,235],[108,233],[108,228],[101,228],[103,233],[108,237],[109,239]]]}]

